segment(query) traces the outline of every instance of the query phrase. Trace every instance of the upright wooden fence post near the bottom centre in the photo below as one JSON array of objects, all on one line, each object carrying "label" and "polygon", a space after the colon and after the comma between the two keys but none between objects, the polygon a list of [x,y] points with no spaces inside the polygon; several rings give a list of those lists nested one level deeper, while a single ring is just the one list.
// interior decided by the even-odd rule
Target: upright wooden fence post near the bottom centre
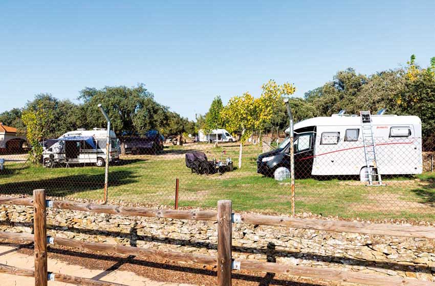
[{"label": "upright wooden fence post near the bottom centre", "polygon": [[231,286],[231,201],[217,202],[217,285]]}]

